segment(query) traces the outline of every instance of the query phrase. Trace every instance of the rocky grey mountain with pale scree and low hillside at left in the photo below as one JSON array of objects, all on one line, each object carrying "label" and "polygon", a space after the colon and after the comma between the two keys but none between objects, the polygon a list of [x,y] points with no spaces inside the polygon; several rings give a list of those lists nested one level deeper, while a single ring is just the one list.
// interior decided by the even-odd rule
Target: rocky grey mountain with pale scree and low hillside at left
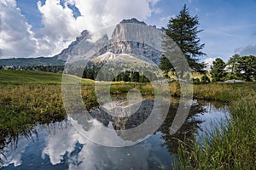
[{"label": "rocky grey mountain with pale scree and low hillside at left", "polygon": [[[142,63],[160,63],[162,31],[155,26],[147,26],[143,21],[133,18],[122,20],[115,26],[111,36],[102,32],[98,36],[97,33],[82,31],[81,36],[68,48],[51,58],[0,59],[0,65],[64,65],[67,60],[79,62],[87,57],[91,57],[94,62],[111,59],[132,62],[139,59]],[[93,53],[88,56],[91,51]]]}]

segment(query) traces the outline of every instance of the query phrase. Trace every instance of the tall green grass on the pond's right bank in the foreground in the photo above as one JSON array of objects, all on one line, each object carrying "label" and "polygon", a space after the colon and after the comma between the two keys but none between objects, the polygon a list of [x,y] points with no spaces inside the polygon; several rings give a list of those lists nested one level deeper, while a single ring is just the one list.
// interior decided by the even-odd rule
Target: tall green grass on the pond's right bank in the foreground
[{"label": "tall green grass on the pond's right bank in the foreground", "polygon": [[247,96],[230,102],[231,119],[226,126],[209,133],[203,144],[180,143],[176,168],[256,169],[256,93],[254,88],[244,91]]}]

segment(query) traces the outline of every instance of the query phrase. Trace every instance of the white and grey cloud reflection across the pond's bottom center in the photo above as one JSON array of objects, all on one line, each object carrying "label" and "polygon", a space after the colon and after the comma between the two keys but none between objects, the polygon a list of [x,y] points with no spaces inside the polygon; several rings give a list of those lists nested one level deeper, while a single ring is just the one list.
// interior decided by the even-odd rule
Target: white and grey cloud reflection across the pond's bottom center
[{"label": "white and grey cloud reflection across the pond's bottom center", "polygon": [[[102,124],[98,123],[98,126],[102,127]],[[104,167],[105,169],[108,169],[108,167],[112,169],[131,169],[135,166],[131,165],[131,162],[137,164],[138,169],[148,169],[147,158],[153,148],[147,142],[126,147],[125,150],[124,148],[112,148],[90,142],[78,133],[71,124],[67,123],[65,127],[64,130],[55,128],[55,133],[49,134],[44,139],[45,147],[42,158],[49,156],[51,164],[61,163],[63,156],[67,154],[68,169],[96,169],[96,167],[99,167],[99,169]],[[101,136],[100,133],[95,133],[95,129],[90,129],[88,133],[98,137]],[[75,150],[76,144],[82,144],[83,147],[80,148],[77,155],[73,155],[71,153]],[[155,155],[152,154],[151,157],[155,157]],[[122,163],[120,163],[120,160],[122,160]],[[99,162],[101,163],[99,164]]]}]

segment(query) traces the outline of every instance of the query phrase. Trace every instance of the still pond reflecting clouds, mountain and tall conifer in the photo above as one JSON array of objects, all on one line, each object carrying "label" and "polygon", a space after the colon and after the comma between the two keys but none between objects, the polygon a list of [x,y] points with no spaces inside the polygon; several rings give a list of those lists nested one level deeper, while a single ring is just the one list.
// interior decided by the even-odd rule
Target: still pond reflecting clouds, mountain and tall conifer
[{"label": "still pond reflecting clouds, mountain and tall conifer", "polygon": [[[117,121],[109,116],[104,108],[94,108],[90,116],[97,126],[116,130],[118,139],[126,140],[119,129],[128,129],[141,124],[151,113],[150,99],[145,99],[137,113]],[[120,104],[121,102],[118,102]],[[126,105],[126,104],[125,104]],[[7,169],[172,169],[177,156],[177,139],[205,138],[212,126],[220,126],[230,118],[227,105],[218,102],[194,100],[189,116],[177,133],[170,134],[170,127],[177,108],[178,100],[172,99],[171,107],[161,126],[153,134],[125,147],[110,147],[93,142],[74,126],[70,117],[62,122],[38,124],[29,134],[20,134],[15,143],[7,144],[1,155],[0,167]],[[105,106],[111,108],[113,104]],[[120,110],[122,111],[122,110]],[[129,114],[129,113],[125,113]],[[124,121],[124,120],[123,120]],[[92,129],[93,130],[93,129]],[[91,129],[88,130],[90,132]],[[86,133],[85,133],[86,134]],[[104,134],[96,132],[99,141]],[[113,138],[109,136],[109,138]],[[129,139],[130,141],[131,139]],[[101,141],[100,141],[101,142]],[[108,144],[107,144],[108,145]]]}]

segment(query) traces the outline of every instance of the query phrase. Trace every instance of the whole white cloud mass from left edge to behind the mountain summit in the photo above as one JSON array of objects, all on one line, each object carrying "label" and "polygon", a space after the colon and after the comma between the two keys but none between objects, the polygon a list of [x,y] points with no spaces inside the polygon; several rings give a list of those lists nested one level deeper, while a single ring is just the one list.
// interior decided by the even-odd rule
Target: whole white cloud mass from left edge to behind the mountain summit
[{"label": "whole white cloud mass from left edge to behind the mountain summit", "polygon": [[[15,0],[0,1],[0,58],[52,56],[66,48],[84,29],[97,31],[120,20],[146,20],[159,0],[46,0],[38,1],[42,25],[32,31]],[[79,10],[74,17],[70,5]]]}]

